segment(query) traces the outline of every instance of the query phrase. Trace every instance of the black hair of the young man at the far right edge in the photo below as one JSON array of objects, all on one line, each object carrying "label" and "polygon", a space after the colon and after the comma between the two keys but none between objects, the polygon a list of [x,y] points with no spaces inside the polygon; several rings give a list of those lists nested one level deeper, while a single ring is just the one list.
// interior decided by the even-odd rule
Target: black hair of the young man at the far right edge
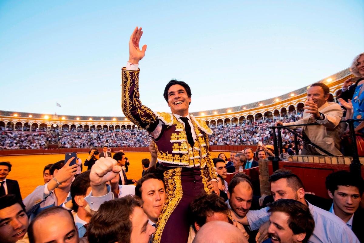
[{"label": "black hair of the young man at the far right edge", "polygon": [[337,171],[331,173],[326,177],[326,189],[328,189],[332,195],[334,195],[335,190],[339,188],[339,185],[344,187],[357,187],[359,189],[360,196],[363,195],[363,179],[356,176],[349,171]]}]

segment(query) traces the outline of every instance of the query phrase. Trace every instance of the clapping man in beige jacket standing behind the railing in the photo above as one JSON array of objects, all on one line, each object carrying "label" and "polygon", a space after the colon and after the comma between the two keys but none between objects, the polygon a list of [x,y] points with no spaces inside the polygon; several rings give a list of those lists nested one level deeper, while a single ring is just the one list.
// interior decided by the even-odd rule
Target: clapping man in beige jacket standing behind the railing
[{"label": "clapping man in beige jacket standing behind the railing", "polygon": [[[327,102],[329,98],[329,87],[324,83],[314,83],[307,90],[307,101],[305,102],[303,118],[289,123],[276,122],[279,125],[297,125],[290,129],[299,128],[300,124],[317,122],[320,125],[301,126],[302,135],[323,148],[327,152],[342,156],[340,152],[340,126],[339,122],[343,117],[343,110],[340,105],[334,102]],[[328,155],[312,145],[305,144],[302,155]]]}]

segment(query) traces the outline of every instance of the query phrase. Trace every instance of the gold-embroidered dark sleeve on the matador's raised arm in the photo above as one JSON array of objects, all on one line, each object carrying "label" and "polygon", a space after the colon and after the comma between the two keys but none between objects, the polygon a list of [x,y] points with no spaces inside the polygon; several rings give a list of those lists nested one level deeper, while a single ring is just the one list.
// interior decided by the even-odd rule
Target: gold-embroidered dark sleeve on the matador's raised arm
[{"label": "gold-embroidered dark sleeve on the matador's raised arm", "polygon": [[[133,82],[135,82],[134,90]],[[132,92],[132,95],[130,93]],[[134,118],[132,109],[136,109],[139,118]],[[156,115],[139,100],[139,71],[122,70],[122,109],[124,115],[135,125],[148,129],[157,119]],[[140,123],[138,121],[140,119]]]}]

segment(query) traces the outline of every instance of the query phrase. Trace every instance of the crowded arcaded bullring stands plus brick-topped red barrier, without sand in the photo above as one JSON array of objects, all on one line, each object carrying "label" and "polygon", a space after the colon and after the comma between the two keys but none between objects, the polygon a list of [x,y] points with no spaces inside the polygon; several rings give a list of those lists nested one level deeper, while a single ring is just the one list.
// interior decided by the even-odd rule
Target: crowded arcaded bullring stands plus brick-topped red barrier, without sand
[{"label": "crowded arcaded bullring stands plus brick-topped red barrier, without sand", "polygon": [[[349,69],[333,74],[319,82],[330,88],[330,101],[336,102],[345,79],[353,77]],[[273,144],[270,126],[275,121],[290,122],[302,118],[307,86],[279,97],[246,105],[191,113],[203,119],[213,129],[209,138],[210,151],[241,151],[245,147],[255,151],[258,142]],[[0,111],[0,155],[52,154],[76,151],[88,152],[90,146],[108,145],[112,152],[148,151],[150,138],[125,117],[95,117],[50,115]],[[293,142],[292,133],[282,129],[282,142]],[[51,149],[54,148],[54,149]],[[360,158],[361,159],[361,158]],[[363,163],[364,161],[362,161]],[[348,170],[350,157],[320,160],[307,156],[289,157],[280,161],[279,168],[289,167],[300,173],[309,191],[327,197],[323,178],[329,172]],[[273,173],[272,162],[259,161],[257,173],[261,193],[269,193],[268,177]],[[324,171],[324,173],[323,173]],[[250,172],[249,172],[250,173]],[[363,175],[363,168],[361,168]],[[312,184],[315,181],[319,186]]]}]

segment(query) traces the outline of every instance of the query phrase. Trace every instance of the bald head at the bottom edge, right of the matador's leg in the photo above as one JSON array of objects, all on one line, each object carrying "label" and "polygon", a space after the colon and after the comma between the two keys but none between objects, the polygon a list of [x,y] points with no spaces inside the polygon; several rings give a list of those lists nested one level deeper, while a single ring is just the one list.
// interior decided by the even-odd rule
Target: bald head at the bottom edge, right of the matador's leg
[{"label": "bald head at the bottom edge, right of the matador's leg", "polygon": [[[229,234],[221,234],[229,232]],[[204,224],[192,243],[248,243],[242,232],[232,224],[223,221],[211,221]]]}]

